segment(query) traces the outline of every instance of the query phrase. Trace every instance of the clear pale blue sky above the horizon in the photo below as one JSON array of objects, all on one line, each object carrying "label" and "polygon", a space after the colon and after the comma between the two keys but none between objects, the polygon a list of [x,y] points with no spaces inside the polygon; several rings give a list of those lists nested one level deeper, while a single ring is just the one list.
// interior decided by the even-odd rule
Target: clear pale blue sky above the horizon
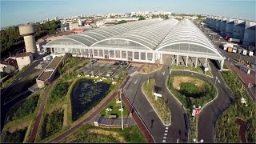
[{"label": "clear pale blue sky above the horizon", "polygon": [[1,27],[46,18],[131,11],[222,15],[256,21],[256,0],[0,0]]}]

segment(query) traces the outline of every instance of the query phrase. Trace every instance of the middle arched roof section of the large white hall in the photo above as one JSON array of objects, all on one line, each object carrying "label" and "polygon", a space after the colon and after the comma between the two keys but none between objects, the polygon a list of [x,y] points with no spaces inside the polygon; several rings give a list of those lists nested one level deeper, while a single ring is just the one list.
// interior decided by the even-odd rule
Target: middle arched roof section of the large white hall
[{"label": "middle arched roof section of the large white hall", "polygon": [[134,46],[134,43],[137,43],[140,47],[144,46],[148,50],[154,50],[177,23],[178,20],[176,19],[159,21],[149,26],[143,26],[136,30],[131,30],[111,38],[103,39],[102,41],[94,43],[92,46],[110,45],[113,47],[114,45],[118,45],[120,47],[120,45],[123,45],[122,43],[126,43],[127,47],[131,47]]}]

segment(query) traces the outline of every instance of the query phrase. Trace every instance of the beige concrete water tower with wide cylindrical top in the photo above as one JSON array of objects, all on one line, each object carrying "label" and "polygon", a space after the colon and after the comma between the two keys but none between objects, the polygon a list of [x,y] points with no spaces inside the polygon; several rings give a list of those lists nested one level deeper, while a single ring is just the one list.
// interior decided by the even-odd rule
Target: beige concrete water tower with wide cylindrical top
[{"label": "beige concrete water tower with wide cylindrical top", "polygon": [[35,46],[34,33],[36,27],[34,25],[18,26],[19,34],[24,37],[26,52],[31,52],[34,57],[38,55],[37,47]]}]

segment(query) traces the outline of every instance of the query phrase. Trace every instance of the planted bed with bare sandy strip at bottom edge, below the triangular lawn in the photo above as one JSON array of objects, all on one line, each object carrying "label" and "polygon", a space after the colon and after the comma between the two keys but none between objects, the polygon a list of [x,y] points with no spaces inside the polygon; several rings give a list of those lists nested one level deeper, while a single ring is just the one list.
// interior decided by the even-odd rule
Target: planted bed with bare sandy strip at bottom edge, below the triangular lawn
[{"label": "planted bed with bare sandy strip at bottom edge, below the triangular lawn", "polygon": [[61,142],[141,143],[146,142],[146,139],[144,138],[141,131],[138,129],[138,126],[130,126],[122,130],[120,128],[104,129],[101,127],[86,124],[70,136],[64,138]]}]

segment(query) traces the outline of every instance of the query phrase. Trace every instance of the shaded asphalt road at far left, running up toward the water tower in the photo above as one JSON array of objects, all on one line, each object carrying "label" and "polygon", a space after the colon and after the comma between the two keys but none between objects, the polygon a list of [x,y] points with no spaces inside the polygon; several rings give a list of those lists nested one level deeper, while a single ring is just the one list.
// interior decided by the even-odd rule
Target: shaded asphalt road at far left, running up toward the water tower
[{"label": "shaded asphalt road at far left, running up toward the water tower", "polygon": [[2,128],[4,126],[4,122],[6,119],[6,114],[8,113],[8,111],[10,110],[10,108],[12,106],[14,106],[17,102],[19,102],[22,98],[26,98],[27,96],[29,96],[29,94],[22,94],[23,92],[25,92],[26,90],[23,90],[20,92],[20,94],[22,94],[22,96],[17,95],[17,97],[15,97],[14,100],[12,100],[12,102],[8,102],[8,104],[6,104],[6,98],[10,95],[11,91],[15,89],[15,87],[22,82],[27,76],[29,76],[30,74],[32,74],[34,72],[34,67],[38,66],[38,64],[42,61],[42,58],[38,59],[37,61],[33,62],[22,74],[20,74],[18,76],[18,78],[16,78],[14,80],[14,82],[12,84],[10,84],[10,86],[6,87],[5,90],[1,90],[1,133],[2,133]]}]

